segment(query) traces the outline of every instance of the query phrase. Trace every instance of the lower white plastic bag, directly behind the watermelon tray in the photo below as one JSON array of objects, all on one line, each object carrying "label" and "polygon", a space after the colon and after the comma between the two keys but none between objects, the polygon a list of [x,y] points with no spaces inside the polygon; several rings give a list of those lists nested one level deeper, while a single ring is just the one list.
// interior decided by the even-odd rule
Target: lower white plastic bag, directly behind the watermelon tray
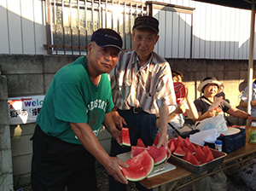
[{"label": "lower white plastic bag, directly behind the watermelon tray", "polygon": [[220,134],[218,130],[211,129],[211,130],[201,130],[198,133],[189,136],[190,142],[194,142],[203,146],[205,142],[215,142]]}]

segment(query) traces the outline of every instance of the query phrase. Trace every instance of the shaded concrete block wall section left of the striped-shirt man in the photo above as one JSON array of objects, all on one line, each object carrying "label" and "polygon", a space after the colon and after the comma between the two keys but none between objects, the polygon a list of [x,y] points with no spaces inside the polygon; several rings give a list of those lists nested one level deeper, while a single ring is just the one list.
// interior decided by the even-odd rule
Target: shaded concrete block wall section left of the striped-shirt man
[{"label": "shaded concrete block wall section left of the striped-shirt man", "polygon": [[[6,76],[6,90],[4,91],[6,98],[2,101],[2,96],[0,96],[0,109],[3,108],[3,103],[6,105],[7,109],[8,97],[45,95],[55,72],[61,67],[75,61],[78,57],[77,55],[0,55],[0,71]],[[0,82],[2,82],[2,80]],[[1,87],[0,90],[2,90]],[[11,165],[9,167],[9,176],[4,180],[4,186],[6,186],[6,182],[8,182],[7,180],[9,179],[9,182],[12,182],[9,188],[17,189],[29,183],[31,179],[32,142],[30,138],[32,137],[35,124],[9,126],[8,121],[3,121],[2,113],[5,115],[4,119],[8,119],[9,114],[8,111],[2,112],[1,110],[0,112],[0,164],[1,161],[3,161],[3,156],[7,155],[6,148],[3,148],[1,142],[3,140],[9,147],[9,159],[7,159],[7,157],[3,159],[5,163],[9,161],[9,165]],[[1,122],[5,125],[4,129],[1,128],[3,126]],[[1,135],[4,135],[4,139],[2,139]],[[6,141],[7,138],[9,138],[9,143]],[[108,131],[102,128],[98,139],[108,153],[110,151],[110,138],[111,136]],[[2,153],[5,153],[5,155]],[[7,165],[3,165],[6,168]],[[0,184],[3,177],[6,175],[6,172],[3,172],[0,165]],[[0,190],[9,191],[11,189],[2,189],[0,187]]]}]

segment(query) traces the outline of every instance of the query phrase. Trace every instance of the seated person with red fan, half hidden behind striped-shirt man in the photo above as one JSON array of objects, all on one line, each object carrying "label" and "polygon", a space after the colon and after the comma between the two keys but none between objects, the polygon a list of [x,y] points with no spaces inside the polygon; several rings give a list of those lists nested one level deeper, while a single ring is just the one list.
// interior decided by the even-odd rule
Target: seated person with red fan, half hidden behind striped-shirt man
[{"label": "seated person with red fan, half hidden behind striped-shirt man", "polygon": [[[183,79],[183,73],[178,72],[175,70],[172,70],[172,81],[175,82],[182,82]],[[198,119],[198,113],[195,107],[195,104],[189,97],[189,91],[186,89],[187,94],[184,99],[184,102],[181,105],[178,105],[176,110],[169,114],[168,116],[168,127],[167,127],[167,134],[169,136],[169,139],[175,136],[175,132],[172,129],[172,126],[176,129],[180,129],[185,124],[185,113],[189,119],[195,120]],[[189,129],[187,129],[189,130]]]}]

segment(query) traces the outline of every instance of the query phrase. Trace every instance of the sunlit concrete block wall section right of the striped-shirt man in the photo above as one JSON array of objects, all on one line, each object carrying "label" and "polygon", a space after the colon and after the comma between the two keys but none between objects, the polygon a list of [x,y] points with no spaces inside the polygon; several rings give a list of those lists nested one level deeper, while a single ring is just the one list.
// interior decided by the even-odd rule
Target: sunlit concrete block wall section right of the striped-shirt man
[{"label": "sunlit concrete block wall section right of the striped-shirt man", "polygon": [[[189,96],[192,99],[201,96],[197,87],[206,77],[214,76],[224,84],[225,99],[230,101],[232,107],[237,107],[240,102],[242,87],[247,86],[248,61],[246,60],[200,60],[200,59],[166,59],[172,69],[183,72],[183,82],[188,86]],[[253,63],[253,68],[255,62]],[[256,78],[253,69],[253,78]],[[244,89],[244,88],[243,88]],[[243,90],[242,89],[242,90]],[[240,108],[246,111],[246,108]],[[228,117],[233,124],[244,124],[246,121],[233,116]]]}]

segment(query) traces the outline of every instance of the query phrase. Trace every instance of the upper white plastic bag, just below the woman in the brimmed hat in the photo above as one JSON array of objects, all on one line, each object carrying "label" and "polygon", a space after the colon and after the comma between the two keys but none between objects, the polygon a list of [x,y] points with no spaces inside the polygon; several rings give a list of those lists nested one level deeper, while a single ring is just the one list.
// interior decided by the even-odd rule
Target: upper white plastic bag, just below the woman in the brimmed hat
[{"label": "upper white plastic bag, just below the woman in the brimmed hat", "polygon": [[220,113],[215,117],[203,119],[195,123],[197,130],[211,130],[216,129],[218,133],[228,130],[227,122],[224,119],[224,114]]}]

